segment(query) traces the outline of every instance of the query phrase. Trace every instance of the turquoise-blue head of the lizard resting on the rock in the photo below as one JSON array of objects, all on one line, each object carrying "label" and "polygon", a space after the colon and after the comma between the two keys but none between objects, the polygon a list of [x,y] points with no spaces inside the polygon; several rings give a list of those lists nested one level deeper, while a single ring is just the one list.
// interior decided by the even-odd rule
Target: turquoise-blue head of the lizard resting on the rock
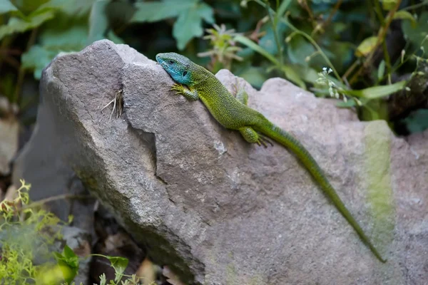
[{"label": "turquoise-blue head of the lizard resting on the rock", "polygon": [[190,67],[192,61],[178,53],[158,53],[156,61],[165,69],[174,81],[190,86],[193,83]]}]

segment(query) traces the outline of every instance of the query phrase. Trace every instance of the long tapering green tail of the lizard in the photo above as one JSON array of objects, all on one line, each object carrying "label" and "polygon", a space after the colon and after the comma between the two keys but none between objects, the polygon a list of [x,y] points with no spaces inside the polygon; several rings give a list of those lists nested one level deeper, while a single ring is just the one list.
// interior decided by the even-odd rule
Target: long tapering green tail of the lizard
[{"label": "long tapering green tail of the lizard", "polygon": [[377,249],[374,247],[372,242],[370,242],[369,237],[365,234],[365,232],[360,227],[360,224],[352,217],[350,211],[345,207],[345,204],[340,199],[339,195],[335,189],[330,185],[330,182],[325,177],[324,172],[321,167],[317,164],[315,159],[310,155],[310,153],[306,150],[306,148],[292,135],[287,133],[285,130],[277,127],[276,125],[270,123],[268,120],[263,120],[263,122],[256,123],[253,125],[253,128],[258,133],[262,133],[263,135],[279,142],[281,145],[289,149],[297,158],[305,165],[306,169],[310,172],[312,177],[320,184],[322,190],[324,190],[325,194],[332,200],[335,204],[339,212],[343,217],[351,224],[351,226],[355,229],[355,232],[360,236],[363,242],[367,244],[373,254],[379,259],[379,261],[386,262],[386,259],[383,259]]}]

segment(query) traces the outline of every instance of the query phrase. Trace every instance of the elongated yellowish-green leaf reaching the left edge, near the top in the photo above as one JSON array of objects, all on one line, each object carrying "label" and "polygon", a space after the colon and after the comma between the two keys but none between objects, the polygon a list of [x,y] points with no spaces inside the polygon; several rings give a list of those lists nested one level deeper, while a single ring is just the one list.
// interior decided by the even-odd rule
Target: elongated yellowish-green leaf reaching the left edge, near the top
[{"label": "elongated yellowish-green leaf reaching the left edge, near the top", "polygon": [[28,17],[28,20],[20,19],[17,17],[11,17],[8,24],[0,26],[0,40],[4,36],[10,35],[12,33],[22,33],[31,28],[36,28],[40,26],[45,21],[54,18],[53,9],[42,9],[31,13]]}]

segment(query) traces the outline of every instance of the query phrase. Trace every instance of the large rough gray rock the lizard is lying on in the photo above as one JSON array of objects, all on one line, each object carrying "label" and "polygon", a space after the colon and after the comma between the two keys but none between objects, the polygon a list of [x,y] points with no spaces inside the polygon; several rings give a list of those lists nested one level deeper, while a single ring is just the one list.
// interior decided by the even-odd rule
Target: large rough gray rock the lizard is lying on
[{"label": "large rough gray rock the lizard is lying on", "polygon": [[[396,138],[283,79],[260,91],[239,81],[251,107],[307,146],[386,264],[290,152],[225,130],[128,46],[98,41],[57,57],[41,95],[63,162],[188,283],[426,284],[428,131]],[[124,113],[109,120],[100,110],[119,90]]]}]

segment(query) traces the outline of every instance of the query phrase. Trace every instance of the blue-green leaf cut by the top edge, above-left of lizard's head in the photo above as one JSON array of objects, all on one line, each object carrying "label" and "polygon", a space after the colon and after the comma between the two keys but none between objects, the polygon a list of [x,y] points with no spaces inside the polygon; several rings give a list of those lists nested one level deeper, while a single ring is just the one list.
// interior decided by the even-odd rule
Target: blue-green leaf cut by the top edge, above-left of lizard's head
[{"label": "blue-green leaf cut by the top edge, above-left of lizard's head", "polygon": [[[156,22],[163,19],[175,18],[184,11],[192,8],[199,0],[183,1],[152,1],[138,2],[138,9],[131,18],[131,22]],[[167,3],[165,3],[167,2]]]}]

